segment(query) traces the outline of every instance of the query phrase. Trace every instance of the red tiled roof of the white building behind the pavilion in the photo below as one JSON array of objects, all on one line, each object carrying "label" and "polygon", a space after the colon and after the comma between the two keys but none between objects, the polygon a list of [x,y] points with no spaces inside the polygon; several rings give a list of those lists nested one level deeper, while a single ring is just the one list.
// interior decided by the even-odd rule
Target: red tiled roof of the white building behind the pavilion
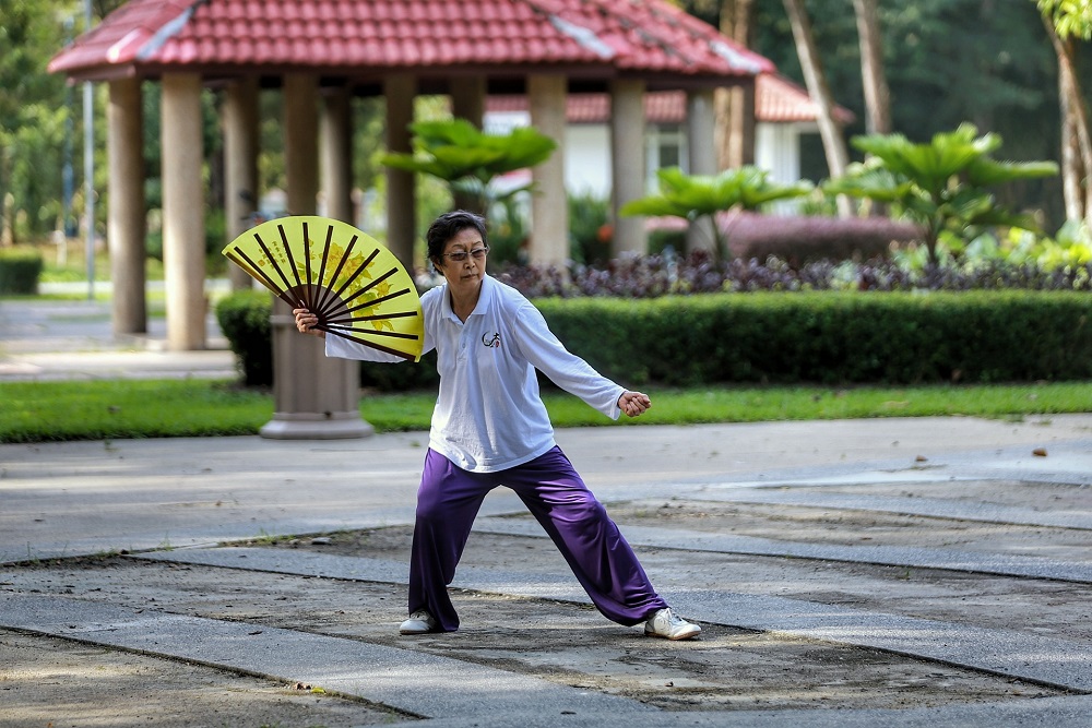
[{"label": "red tiled roof of the white building behind the pavilion", "polygon": [[[525,111],[525,96],[492,95],[486,102],[489,111]],[[853,121],[853,112],[836,107],[843,123]],[[569,123],[605,123],[610,117],[606,94],[569,94],[566,116]],[[644,95],[644,116],[649,123],[680,123],[686,119],[686,93],[654,91]],[[816,106],[805,88],[775,73],[762,73],[755,81],[755,119],[771,123],[815,121]]]}]

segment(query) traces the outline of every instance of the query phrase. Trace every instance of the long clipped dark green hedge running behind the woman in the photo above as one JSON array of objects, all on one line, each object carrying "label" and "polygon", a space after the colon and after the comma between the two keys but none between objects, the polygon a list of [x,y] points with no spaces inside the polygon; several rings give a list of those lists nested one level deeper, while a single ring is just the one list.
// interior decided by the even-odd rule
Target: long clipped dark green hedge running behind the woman
[{"label": "long clipped dark green hedge running behind the woman", "polygon": [[[217,317],[248,384],[272,381],[270,296]],[[1092,379],[1092,296],[1037,291],[753,293],[536,301],[569,350],[628,386],[649,382],[881,383]],[[263,379],[264,378],[264,379]],[[420,365],[365,365],[361,385],[435,386]]]}]

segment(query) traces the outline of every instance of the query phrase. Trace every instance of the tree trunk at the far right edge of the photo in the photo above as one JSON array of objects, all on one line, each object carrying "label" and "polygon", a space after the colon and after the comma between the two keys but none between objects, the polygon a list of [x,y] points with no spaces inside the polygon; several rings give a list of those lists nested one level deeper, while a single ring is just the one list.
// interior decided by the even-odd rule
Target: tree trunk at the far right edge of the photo
[{"label": "tree trunk at the far right edge of the photo", "polygon": [[[1088,184],[1088,175],[1092,171],[1092,135],[1089,131],[1088,107],[1081,95],[1075,47],[1072,40],[1058,36],[1052,19],[1044,16],[1043,24],[1046,26],[1046,33],[1058,58],[1058,95],[1063,123],[1063,189],[1066,195],[1066,214],[1071,216],[1071,219],[1083,219],[1087,224],[1092,225],[1092,186]],[[1075,140],[1076,153],[1073,153]]]}]

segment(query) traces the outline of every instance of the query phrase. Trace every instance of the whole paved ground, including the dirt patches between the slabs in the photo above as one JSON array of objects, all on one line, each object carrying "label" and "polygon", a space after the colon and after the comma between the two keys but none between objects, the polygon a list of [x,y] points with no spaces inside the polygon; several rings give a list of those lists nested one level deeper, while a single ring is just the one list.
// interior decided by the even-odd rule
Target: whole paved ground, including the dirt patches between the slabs
[{"label": "whole paved ground, including the dirt patches between the slabs", "polygon": [[[0,377],[230,368],[57,306],[0,303]],[[424,433],[0,445],[0,726],[1092,726],[1092,415],[558,440],[701,640],[603,620],[503,492],[463,628],[396,635]]]}]

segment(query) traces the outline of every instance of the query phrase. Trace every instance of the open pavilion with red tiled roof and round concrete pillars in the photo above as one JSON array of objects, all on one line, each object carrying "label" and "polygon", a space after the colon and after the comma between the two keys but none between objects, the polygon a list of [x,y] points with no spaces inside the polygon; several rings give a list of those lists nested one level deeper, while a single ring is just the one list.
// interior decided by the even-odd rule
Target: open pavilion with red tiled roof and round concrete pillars
[{"label": "open pavilion with red tiled roof and round concrete pillars", "polygon": [[[772,63],[664,0],[131,0],[76,38],[49,70],[109,84],[107,239],[115,334],[146,331],[144,81],[162,86],[161,145],[167,346],[205,346],[201,92],[224,89],[228,239],[245,231],[257,190],[258,89],[284,96],[287,208],[351,220],[349,99],[387,104],[387,148],[411,152],[414,97],[447,94],[478,126],[489,94],[525,94],[532,123],[563,139],[568,94],[610,98],[612,205],[644,194],[643,98],[687,98],[690,169],[712,174],[713,92],[752,86]],[[533,170],[531,258],[562,263],[568,220],[562,154]],[[387,172],[388,240],[407,266],[414,180]],[[616,217],[615,252],[645,248],[643,222]],[[227,242],[227,241],[225,241]],[[277,305],[283,306],[281,303]],[[276,415],[269,437],[357,437],[356,368],[327,360],[274,315]],[[312,371],[292,381],[287,371]],[[295,378],[298,380],[298,378]],[[346,394],[346,392],[348,394]]]}]

